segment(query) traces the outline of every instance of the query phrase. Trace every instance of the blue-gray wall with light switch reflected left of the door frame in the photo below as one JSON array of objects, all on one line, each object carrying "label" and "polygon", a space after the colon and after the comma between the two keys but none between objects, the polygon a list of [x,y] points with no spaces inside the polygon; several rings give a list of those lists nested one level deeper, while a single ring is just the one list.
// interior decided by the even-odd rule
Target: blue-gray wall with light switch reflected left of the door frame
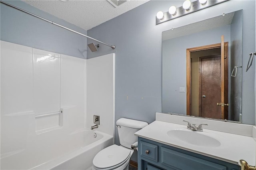
[{"label": "blue-gray wall with light switch reflected left of the door frame", "polygon": [[186,90],[179,92],[186,89],[186,49],[220,43],[222,35],[230,49],[230,25],[162,42],[162,112],[186,115]]}]

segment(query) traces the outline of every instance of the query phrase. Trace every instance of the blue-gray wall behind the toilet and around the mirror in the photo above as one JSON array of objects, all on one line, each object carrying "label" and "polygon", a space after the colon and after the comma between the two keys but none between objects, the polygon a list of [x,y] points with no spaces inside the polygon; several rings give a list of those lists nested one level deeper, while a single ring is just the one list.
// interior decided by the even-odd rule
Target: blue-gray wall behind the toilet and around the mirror
[{"label": "blue-gray wall behind the toilet and around the mirror", "polygon": [[255,51],[255,1],[230,0],[156,25],[158,11],[166,12],[171,5],[182,3],[152,0],[87,31],[89,36],[116,45],[114,50],[101,45],[99,51],[87,53],[88,58],[116,53],[115,120],[126,117],[151,123],[155,112],[162,111],[162,31],[243,9],[242,113],[243,123],[254,125],[255,65],[248,72],[245,69],[249,53]]}]

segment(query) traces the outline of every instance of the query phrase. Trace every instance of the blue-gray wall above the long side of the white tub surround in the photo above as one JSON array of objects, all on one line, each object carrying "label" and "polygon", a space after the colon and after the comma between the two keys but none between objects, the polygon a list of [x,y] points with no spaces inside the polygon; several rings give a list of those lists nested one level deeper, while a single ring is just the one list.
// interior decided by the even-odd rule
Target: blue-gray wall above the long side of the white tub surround
[{"label": "blue-gray wall above the long side of the white tub surround", "polygon": [[[81,32],[82,34],[87,34],[82,28],[38,10],[20,0],[4,1],[50,21]],[[4,4],[1,4],[0,8],[1,40],[79,58],[86,58],[86,38],[5,6]],[[79,50],[84,52],[81,53]]]}]

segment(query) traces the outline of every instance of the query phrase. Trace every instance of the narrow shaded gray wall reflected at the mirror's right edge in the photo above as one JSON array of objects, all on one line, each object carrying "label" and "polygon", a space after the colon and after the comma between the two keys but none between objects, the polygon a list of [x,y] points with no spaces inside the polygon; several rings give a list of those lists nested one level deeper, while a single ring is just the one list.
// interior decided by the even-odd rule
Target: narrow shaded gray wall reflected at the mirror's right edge
[{"label": "narrow shaded gray wall reflected at the mirror's right edge", "polygon": [[[230,74],[234,66],[242,66],[242,11],[234,14],[230,25],[231,56]],[[241,32],[241,34],[239,34]],[[244,56],[246,57],[246,56]],[[229,76],[230,90],[230,112],[231,120],[239,121],[239,114],[242,112],[242,68],[237,68],[236,77]]]}]

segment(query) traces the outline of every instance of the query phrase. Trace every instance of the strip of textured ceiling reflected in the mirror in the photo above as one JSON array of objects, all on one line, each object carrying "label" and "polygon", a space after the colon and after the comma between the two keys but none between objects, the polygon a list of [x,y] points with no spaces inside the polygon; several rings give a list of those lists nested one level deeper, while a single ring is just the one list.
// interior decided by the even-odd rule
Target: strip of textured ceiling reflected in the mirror
[{"label": "strip of textured ceiling reflected in the mirror", "polygon": [[167,30],[162,33],[162,40],[169,40],[171,38],[180,37],[190,35],[196,32],[201,32],[205,30],[210,30],[213,28],[218,28],[222,26],[230,25],[233,20],[234,12],[225,14],[225,16],[217,16],[214,18],[210,18],[207,20],[203,20],[200,22],[196,22],[193,24],[188,24],[186,26],[182,26],[174,28],[173,30]]}]

